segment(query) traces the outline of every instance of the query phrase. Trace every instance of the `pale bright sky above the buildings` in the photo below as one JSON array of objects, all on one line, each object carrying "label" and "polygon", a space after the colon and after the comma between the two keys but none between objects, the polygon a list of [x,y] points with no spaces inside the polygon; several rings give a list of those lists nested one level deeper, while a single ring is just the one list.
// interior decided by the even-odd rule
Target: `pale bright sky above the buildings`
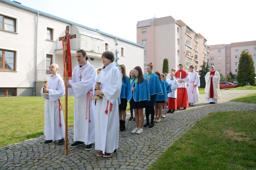
[{"label": "pale bright sky above the buildings", "polygon": [[256,40],[255,0],[16,0],[22,5],[86,27],[136,40],[138,21],[172,16],[207,45]]}]

